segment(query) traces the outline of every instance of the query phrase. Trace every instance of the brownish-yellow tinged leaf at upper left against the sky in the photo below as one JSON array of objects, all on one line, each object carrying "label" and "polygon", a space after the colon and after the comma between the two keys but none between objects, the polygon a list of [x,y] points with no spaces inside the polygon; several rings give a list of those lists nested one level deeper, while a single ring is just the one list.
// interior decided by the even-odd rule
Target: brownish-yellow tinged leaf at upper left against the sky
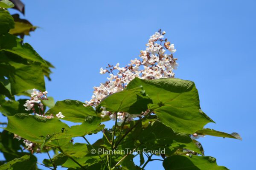
[{"label": "brownish-yellow tinged leaf at upper left against the sky", "polygon": [[12,15],[15,21],[15,28],[10,30],[10,34],[17,35],[29,35],[30,31],[35,31],[37,28],[36,26],[33,26],[28,20],[20,19],[19,14]]}]

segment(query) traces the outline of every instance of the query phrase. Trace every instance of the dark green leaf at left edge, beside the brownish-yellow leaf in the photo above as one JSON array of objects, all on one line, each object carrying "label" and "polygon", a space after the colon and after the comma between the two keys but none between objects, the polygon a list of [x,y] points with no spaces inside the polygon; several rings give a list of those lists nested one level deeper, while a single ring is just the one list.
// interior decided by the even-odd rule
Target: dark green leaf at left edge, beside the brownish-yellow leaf
[{"label": "dark green leaf at left edge, beside the brownish-yellow leaf", "polygon": [[0,8],[0,35],[8,33],[11,28],[14,28],[12,16],[8,11]]}]

